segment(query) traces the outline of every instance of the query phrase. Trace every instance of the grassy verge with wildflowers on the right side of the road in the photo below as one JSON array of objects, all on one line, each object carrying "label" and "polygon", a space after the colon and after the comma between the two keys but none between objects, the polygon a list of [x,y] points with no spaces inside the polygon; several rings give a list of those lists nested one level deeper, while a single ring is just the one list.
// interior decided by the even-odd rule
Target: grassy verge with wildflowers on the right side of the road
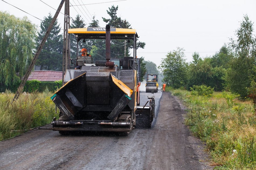
[{"label": "grassy verge with wildflowers on the right side of the road", "polygon": [[198,96],[170,89],[186,103],[185,124],[206,143],[215,169],[256,169],[256,116],[250,100],[240,101],[227,92]]}]

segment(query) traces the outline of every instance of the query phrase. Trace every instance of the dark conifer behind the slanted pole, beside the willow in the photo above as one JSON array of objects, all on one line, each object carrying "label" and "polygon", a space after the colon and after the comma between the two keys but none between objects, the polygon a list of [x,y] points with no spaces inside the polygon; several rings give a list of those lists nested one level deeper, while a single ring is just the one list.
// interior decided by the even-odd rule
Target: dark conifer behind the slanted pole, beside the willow
[{"label": "dark conifer behind the slanted pole, beside the willow", "polygon": [[[44,17],[40,24],[40,31],[37,38],[37,43],[40,44],[45,35],[45,31],[53,17],[51,13]],[[41,70],[62,71],[62,52],[63,52],[63,35],[60,34],[60,24],[57,20],[53,24],[53,28],[47,38],[40,55],[36,61],[36,65],[41,66]]]}]

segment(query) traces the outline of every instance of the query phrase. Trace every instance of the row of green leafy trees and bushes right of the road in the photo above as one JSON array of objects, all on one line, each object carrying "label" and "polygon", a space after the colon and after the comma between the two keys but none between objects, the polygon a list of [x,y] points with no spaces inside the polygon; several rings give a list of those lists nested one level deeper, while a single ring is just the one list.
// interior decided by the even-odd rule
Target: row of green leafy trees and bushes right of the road
[{"label": "row of green leafy trees and bushes right of the road", "polygon": [[215,55],[202,58],[194,52],[192,62],[185,61],[184,49],[170,51],[158,67],[163,81],[172,88],[190,89],[193,85],[206,85],[215,91],[228,90],[247,96],[247,89],[256,76],[256,38],[253,23],[247,15],[230,38]]}]

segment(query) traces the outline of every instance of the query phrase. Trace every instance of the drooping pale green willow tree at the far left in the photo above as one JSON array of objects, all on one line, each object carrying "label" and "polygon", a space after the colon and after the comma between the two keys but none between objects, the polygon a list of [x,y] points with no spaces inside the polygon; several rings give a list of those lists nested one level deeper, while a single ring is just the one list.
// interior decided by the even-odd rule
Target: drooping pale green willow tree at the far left
[{"label": "drooping pale green willow tree at the far left", "polygon": [[11,87],[19,84],[33,57],[36,26],[22,19],[0,12],[0,84]]}]

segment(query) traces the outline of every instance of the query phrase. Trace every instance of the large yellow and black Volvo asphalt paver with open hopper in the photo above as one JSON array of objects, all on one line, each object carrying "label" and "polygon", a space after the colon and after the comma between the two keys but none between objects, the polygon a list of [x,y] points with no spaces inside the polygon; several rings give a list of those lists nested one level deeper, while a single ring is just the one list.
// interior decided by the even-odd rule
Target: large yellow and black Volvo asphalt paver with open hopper
[{"label": "large yellow and black Volvo asphalt paver with open hopper", "polygon": [[[53,119],[52,130],[64,134],[70,131],[112,131],[127,135],[136,125],[138,106],[137,83],[140,66],[136,58],[134,29],[74,28],[68,30],[77,38],[77,58],[71,59],[71,68],[66,70],[62,86],[51,97],[60,109],[60,119]],[[84,39],[106,39],[106,58],[93,62],[93,57],[79,56],[78,42]],[[110,58],[110,43],[115,39],[133,41],[133,56]],[[122,47],[123,48],[123,47]],[[74,69],[81,66],[81,69]],[[154,97],[150,106],[143,108],[154,117]],[[44,128],[45,129],[45,128]]]}]

